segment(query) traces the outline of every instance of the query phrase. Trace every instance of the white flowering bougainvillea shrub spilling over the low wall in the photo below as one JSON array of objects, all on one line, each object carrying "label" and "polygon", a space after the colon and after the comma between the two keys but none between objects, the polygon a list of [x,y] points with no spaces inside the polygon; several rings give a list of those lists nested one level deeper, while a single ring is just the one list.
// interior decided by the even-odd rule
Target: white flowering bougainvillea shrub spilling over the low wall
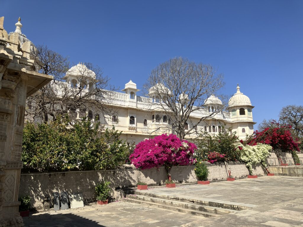
[{"label": "white flowering bougainvillea shrub spilling over the low wall", "polygon": [[239,160],[246,163],[249,174],[252,175],[252,164],[261,163],[265,168],[267,167],[265,160],[272,148],[268,144],[257,143],[255,146],[239,144],[237,149],[240,153]]}]

